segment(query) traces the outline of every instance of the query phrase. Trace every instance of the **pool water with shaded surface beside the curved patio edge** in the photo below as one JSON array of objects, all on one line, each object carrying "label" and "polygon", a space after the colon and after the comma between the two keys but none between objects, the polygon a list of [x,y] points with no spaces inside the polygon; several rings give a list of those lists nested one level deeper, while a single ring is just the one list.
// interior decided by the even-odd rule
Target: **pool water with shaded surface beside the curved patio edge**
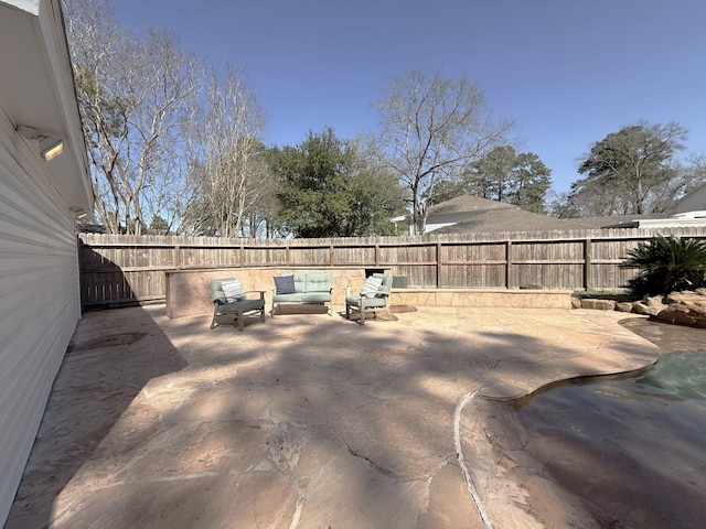
[{"label": "pool water with shaded surface beside the curved patio edge", "polygon": [[630,378],[568,384],[518,402],[544,472],[600,527],[706,527],[706,349]]}]

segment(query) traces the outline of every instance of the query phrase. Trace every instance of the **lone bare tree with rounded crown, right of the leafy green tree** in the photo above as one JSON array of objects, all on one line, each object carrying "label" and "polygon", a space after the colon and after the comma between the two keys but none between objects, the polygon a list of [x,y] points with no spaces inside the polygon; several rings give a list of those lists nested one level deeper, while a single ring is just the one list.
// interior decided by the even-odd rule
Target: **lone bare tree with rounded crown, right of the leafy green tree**
[{"label": "lone bare tree with rounded crown, right of the leafy green tree", "polygon": [[464,76],[453,80],[416,69],[392,80],[377,109],[377,152],[408,190],[419,235],[437,184],[457,179],[470,162],[506,143],[513,126],[491,118],[483,93]]}]

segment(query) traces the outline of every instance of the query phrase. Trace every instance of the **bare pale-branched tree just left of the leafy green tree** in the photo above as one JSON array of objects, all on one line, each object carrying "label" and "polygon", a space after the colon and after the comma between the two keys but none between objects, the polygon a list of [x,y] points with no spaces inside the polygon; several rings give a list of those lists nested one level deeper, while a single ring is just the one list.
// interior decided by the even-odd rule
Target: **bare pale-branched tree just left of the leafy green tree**
[{"label": "bare pale-branched tree just left of the leafy green tree", "polygon": [[[264,115],[245,75],[227,66],[213,72],[201,131],[202,151],[191,173],[199,198],[185,215],[193,233],[220,237],[254,236],[253,215],[265,196],[274,195],[264,161]],[[244,229],[244,219],[248,219]],[[255,223],[257,225],[257,223]]]}]

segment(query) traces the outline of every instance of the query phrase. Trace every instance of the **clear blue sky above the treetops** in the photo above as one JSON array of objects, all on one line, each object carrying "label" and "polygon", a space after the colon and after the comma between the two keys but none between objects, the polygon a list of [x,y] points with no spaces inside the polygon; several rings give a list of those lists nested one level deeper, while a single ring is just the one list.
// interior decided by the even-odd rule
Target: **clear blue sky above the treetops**
[{"label": "clear blue sky above the treetops", "polygon": [[704,0],[114,0],[137,33],[168,28],[213,65],[247,72],[268,117],[267,144],[332,127],[374,131],[378,99],[413,67],[485,94],[514,119],[521,150],[580,176],[595,141],[644,119],[689,131],[706,154]]}]

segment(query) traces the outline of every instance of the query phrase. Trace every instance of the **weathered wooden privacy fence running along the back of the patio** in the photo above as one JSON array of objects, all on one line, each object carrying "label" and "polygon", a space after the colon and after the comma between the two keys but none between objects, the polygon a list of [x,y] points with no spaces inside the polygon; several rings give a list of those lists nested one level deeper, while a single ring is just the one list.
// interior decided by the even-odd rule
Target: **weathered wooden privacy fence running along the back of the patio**
[{"label": "weathered wooden privacy fence running along the back of the patio", "polygon": [[621,228],[419,237],[221,239],[79,234],[84,307],[164,301],[167,270],[389,269],[409,288],[617,289],[629,249],[655,235],[706,238],[706,228]]}]

